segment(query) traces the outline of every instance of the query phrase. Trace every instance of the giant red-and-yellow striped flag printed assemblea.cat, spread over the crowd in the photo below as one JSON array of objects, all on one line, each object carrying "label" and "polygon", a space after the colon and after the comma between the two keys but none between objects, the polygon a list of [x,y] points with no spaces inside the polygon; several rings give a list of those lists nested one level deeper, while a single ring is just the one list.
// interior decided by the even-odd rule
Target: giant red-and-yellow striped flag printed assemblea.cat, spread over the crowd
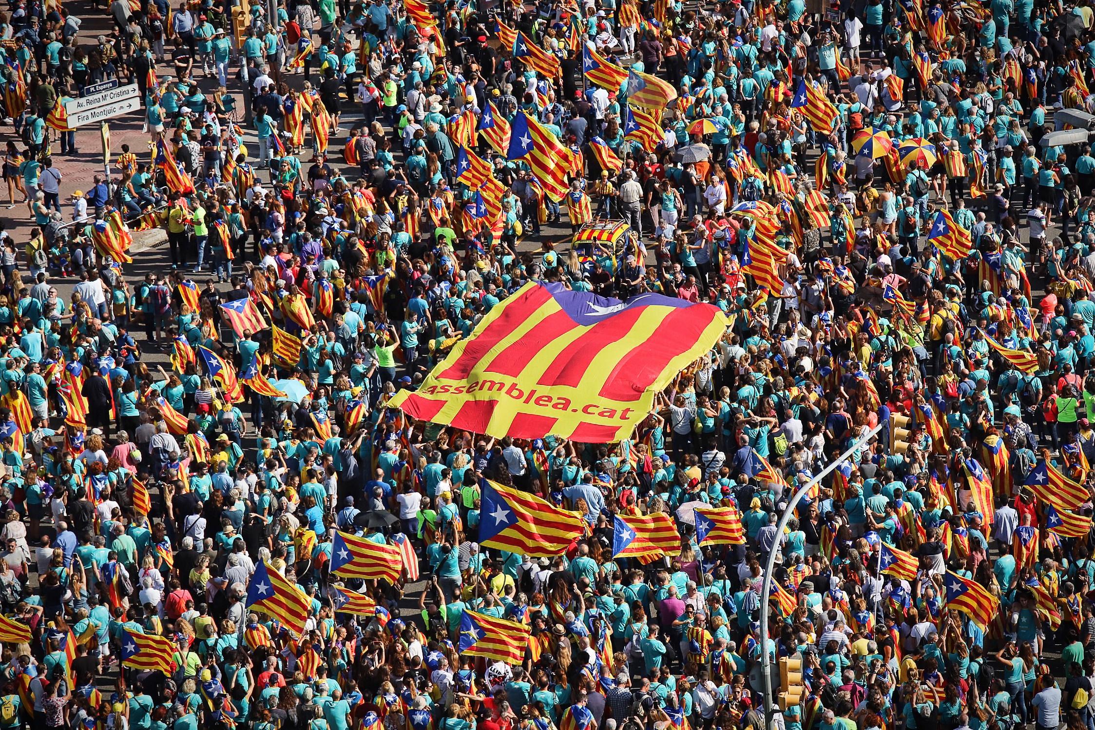
[{"label": "giant red-and-yellow striped flag printed assemblea.cat, spread over the crowd", "polygon": [[711,304],[654,293],[621,302],[531,281],[389,405],[494,437],[620,441],[725,328]]}]

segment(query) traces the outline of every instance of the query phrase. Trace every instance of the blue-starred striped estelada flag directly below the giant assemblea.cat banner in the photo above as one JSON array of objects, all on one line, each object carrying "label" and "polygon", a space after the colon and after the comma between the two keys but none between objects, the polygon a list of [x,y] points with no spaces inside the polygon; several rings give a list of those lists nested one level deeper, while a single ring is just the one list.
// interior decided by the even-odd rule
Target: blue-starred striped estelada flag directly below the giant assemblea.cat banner
[{"label": "blue-starred striped estelada flag directly below the giant assemblea.cat banner", "polygon": [[481,494],[480,544],[528,557],[562,555],[586,534],[578,512],[545,499],[487,480]]}]

